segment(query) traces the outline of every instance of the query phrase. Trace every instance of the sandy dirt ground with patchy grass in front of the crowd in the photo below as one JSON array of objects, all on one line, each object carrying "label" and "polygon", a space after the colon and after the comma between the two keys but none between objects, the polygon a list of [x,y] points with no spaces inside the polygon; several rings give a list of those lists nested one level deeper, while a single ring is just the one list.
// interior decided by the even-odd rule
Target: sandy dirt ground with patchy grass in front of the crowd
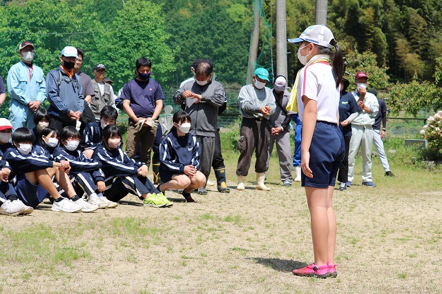
[{"label": "sandy dirt ground with patchy grass in front of the crowd", "polygon": [[128,196],[89,214],[44,202],[0,217],[0,292],[442,293],[442,190],[335,190],[338,277],[320,280],[291,274],[313,261],[303,188],[247,186],[209,186],[197,204],[169,192],[172,208]]}]

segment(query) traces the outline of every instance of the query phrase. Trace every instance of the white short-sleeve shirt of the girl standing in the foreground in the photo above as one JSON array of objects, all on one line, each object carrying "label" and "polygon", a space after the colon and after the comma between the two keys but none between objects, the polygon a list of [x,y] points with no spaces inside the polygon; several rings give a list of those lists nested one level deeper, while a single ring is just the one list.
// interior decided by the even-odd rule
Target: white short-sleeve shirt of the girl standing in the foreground
[{"label": "white short-sleeve shirt of the girl standing in the foreground", "polygon": [[339,88],[336,88],[333,68],[328,63],[317,62],[302,68],[297,92],[300,120],[304,116],[302,96],[307,96],[318,105],[316,120],[338,124]]}]

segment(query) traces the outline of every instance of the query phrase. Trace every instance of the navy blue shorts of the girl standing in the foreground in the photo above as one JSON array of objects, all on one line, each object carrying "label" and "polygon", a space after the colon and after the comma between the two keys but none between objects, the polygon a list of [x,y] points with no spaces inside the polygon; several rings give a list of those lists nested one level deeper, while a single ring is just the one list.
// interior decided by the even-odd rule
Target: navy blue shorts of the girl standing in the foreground
[{"label": "navy blue shorts of the girl standing in the foreground", "polygon": [[345,155],[343,133],[336,124],[316,121],[310,145],[309,167],[313,177],[301,173],[301,186],[328,188],[336,183],[336,174]]}]

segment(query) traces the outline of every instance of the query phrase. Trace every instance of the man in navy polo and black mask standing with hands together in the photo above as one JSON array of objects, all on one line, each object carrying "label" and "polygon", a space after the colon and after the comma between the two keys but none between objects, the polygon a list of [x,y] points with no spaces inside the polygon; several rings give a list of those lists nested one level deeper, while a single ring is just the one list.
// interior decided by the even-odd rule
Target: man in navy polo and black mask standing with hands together
[{"label": "man in navy polo and black mask standing with hands together", "polygon": [[135,157],[141,143],[140,161],[149,166],[164,94],[160,84],[151,79],[152,62],[140,57],[135,65],[137,77],[124,84],[121,95],[123,109],[129,116],[126,153],[128,157]]}]

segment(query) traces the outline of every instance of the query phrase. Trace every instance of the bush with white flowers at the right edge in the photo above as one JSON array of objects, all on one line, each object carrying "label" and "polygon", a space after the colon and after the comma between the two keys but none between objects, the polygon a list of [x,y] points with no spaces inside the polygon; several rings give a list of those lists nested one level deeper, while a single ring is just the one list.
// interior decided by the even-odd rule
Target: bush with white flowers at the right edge
[{"label": "bush with white flowers at the right edge", "polygon": [[427,124],[423,126],[421,135],[428,141],[428,149],[436,157],[442,158],[442,110],[428,117]]}]

